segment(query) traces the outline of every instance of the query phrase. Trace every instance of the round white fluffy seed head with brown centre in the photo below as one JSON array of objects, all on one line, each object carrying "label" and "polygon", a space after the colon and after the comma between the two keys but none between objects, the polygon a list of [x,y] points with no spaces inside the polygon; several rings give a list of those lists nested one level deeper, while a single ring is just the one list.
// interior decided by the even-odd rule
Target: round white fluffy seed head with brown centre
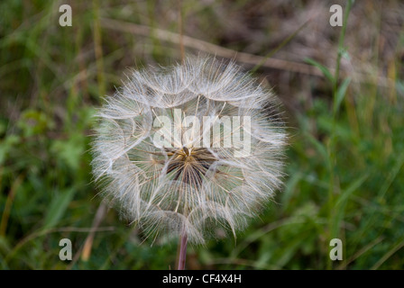
[{"label": "round white fluffy seed head with brown centre", "polygon": [[[277,106],[271,91],[234,62],[196,57],[132,71],[98,112],[93,174],[106,199],[150,235],[187,234],[193,244],[218,226],[235,235],[280,188],[286,133]],[[175,121],[176,112],[182,120],[213,121],[188,138],[170,138],[170,147],[158,144],[158,130],[160,136],[189,131]],[[234,121],[226,132],[222,121],[218,137],[210,137],[226,116],[248,118],[250,127]],[[197,145],[206,136],[208,145]],[[248,150],[240,146],[245,139]]]}]

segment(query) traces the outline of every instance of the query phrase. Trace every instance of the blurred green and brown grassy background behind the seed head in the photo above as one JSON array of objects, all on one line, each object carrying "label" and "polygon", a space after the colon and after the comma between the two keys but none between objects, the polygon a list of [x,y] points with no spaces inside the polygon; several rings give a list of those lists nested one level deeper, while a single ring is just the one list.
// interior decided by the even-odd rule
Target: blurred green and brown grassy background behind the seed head
[{"label": "blurred green and brown grassy background behind the seed head", "polygon": [[[72,26],[61,27],[61,4]],[[332,4],[344,8],[332,27]],[[404,267],[404,5],[357,1],[0,2],[0,267],[169,269],[96,196],[92,115],[127,67],[186,53],[234,58],[280,96],[285,187],[236,239],[188,249],[188,269]],[[350,10],[350,11],[349,11]],[[349,17],[348,17],[349,16]],[[181,36],[183,35],[183,36]],[[59,258],[61,238],[73,259]],[[332,238],[344,259],[331,261]]]}]

